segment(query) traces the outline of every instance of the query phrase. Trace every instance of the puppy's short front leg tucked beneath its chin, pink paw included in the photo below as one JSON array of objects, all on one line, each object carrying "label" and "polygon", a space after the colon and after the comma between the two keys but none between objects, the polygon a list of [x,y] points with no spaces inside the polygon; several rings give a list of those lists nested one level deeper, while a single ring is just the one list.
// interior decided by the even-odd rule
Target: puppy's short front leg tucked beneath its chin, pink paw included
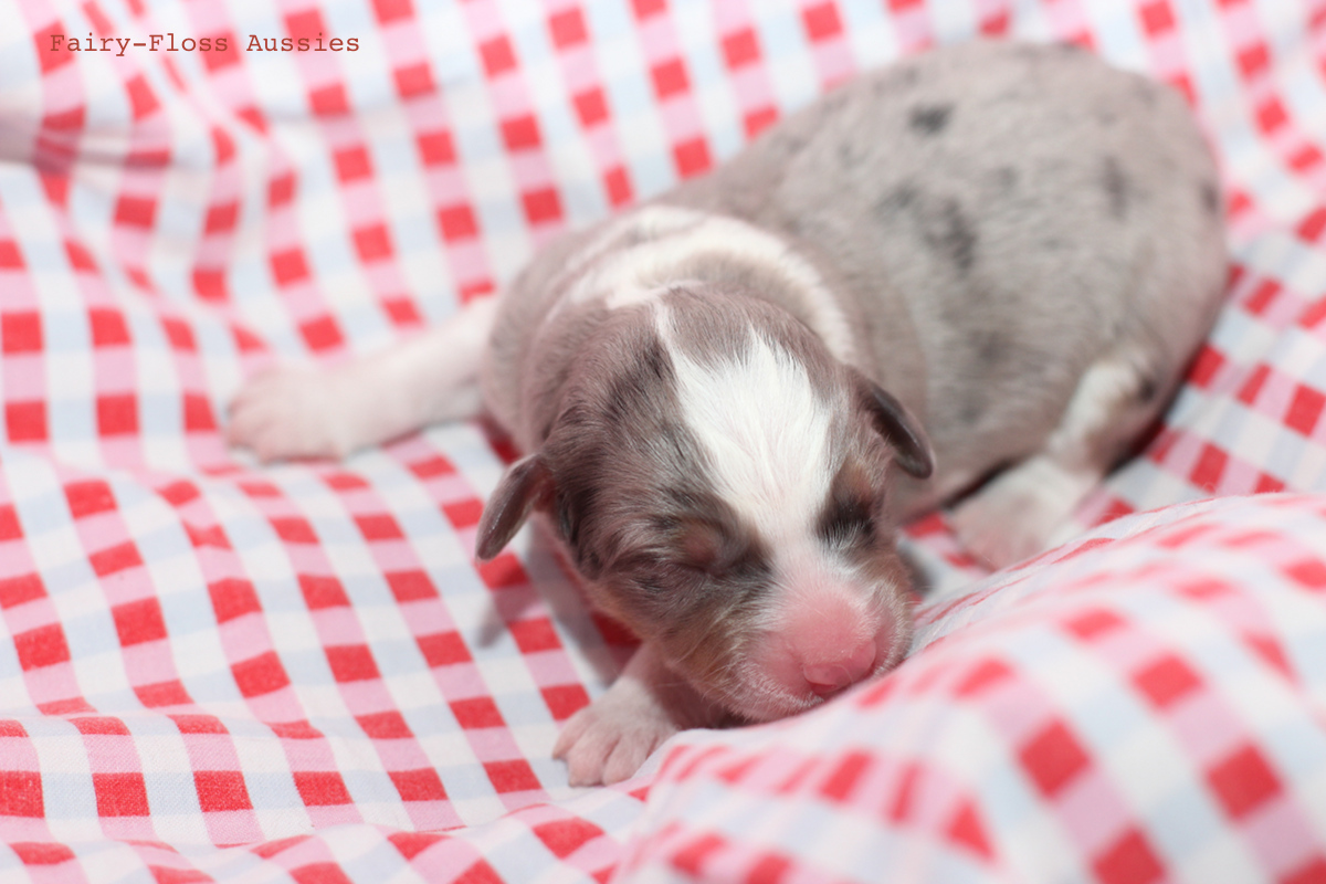
[{"label": "puppy's short front leg tucked beneath its chin, pink paw included", "polygon": [[713,726],[723,716],[646,643],[607,693],[572,716],[553,758],[566,762],[572,786],[610,785],[635,775],[678,730]]}]

